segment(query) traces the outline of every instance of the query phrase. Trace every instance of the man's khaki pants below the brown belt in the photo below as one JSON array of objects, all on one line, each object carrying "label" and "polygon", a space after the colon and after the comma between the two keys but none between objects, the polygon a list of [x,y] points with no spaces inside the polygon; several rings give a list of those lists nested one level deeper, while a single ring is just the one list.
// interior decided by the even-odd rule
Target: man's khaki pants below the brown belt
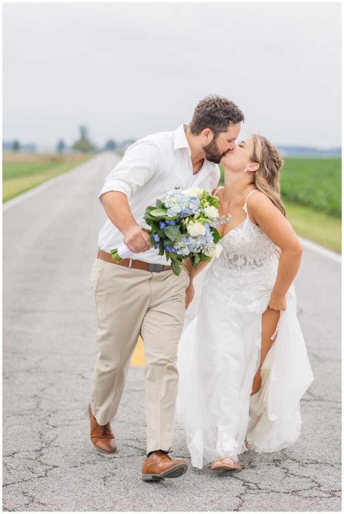
[{"label": "man's khaki pants below the brown belt", "polygon": [[95,259],[91,285],[97,307],[97,347],[91,408],[99,425],[118,410],[139,335],[145,353],[147,452],[168,450],[178,386],[177,347],[185,316],[188,274],[129,269]]}]

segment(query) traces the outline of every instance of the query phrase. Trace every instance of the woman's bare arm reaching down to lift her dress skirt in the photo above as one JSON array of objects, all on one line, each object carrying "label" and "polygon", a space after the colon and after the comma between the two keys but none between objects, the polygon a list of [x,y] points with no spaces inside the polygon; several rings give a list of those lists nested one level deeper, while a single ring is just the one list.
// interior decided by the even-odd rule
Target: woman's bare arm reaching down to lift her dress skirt
[{"label": "woman's bare arm reaching down to lift her dress skirt", "polygon": [[280,249],[276,282],[269,306],[285,310],[285,295],[300,267],[302,246],[290,223],[264,193],[252,194],[247,201],[249,215]]}]

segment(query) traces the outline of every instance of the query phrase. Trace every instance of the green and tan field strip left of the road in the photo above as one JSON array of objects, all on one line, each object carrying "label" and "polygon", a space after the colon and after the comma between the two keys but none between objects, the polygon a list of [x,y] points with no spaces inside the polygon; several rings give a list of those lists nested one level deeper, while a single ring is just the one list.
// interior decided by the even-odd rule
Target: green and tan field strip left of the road
[{"label": "green and tan field strip left of the road", "polygon": [[90,157],[91,155],[89,154],[4,154],[3,202],[38,186],[56,175],[69,171]]}]

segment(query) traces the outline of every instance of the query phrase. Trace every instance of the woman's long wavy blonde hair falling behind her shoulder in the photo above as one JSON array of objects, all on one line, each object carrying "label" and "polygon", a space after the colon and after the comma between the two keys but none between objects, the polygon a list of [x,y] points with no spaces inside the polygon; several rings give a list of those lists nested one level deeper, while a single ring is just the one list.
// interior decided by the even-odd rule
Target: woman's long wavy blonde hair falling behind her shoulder
[{"label": "woman's long wavy blonde hair falling behind her shoulder", "polygon": [[251,160],[259,164],[258,170],[253,173],[253,183],[258,191],[269,196],[272,203],[285,216],[279,184],[279,170],[283,166],[283,159],[277,148],[266,137],[258,134],[253,134],[252,137],[254,150]]}]

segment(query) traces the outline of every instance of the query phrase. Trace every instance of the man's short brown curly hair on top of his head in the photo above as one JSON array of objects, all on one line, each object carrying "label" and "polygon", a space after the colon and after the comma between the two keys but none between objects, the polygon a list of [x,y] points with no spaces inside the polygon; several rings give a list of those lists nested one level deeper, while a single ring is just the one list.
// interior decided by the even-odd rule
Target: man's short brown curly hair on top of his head
[{"label": "man's short brown curly hair on top of his head", "polygon": [[190,132],[198,136],[205,128],[214,132],[215,138],[228,130],[228,126],[244,121],[239,107],[227,98],[209,95],[201,100],[190,121]]}]

